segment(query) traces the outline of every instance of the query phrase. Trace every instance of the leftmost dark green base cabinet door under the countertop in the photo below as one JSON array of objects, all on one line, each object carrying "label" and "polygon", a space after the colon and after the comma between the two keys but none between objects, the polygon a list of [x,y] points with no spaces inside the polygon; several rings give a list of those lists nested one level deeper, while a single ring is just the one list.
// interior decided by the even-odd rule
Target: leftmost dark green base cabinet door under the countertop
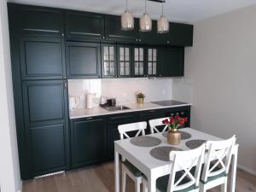
[{"label": "leftmost dark green base cabinet door under the countertop", "polygon": [[88,166],[106,160],[106,116],[71,119],[72,167]]}]

